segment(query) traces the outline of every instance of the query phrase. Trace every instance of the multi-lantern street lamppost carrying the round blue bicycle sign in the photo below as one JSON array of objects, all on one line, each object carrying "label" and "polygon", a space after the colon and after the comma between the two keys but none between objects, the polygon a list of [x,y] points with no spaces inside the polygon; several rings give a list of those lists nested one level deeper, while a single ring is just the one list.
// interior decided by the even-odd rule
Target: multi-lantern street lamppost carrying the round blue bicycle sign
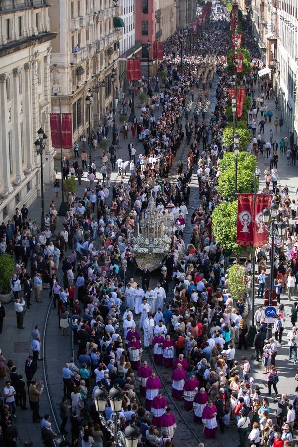
[{"label": "multi-lantern street lamppost carrying the round blue bicycle sign", "polygon": [[[275,231],[275,219],[277,215],[278,205],[272,202],[269,208],[265,208],[262,211],[263,221],[266,226],[269,225],[269,218],[271,216],[271,253],[270,253],[270,287],[269,287],[269,305],[272,306],[273,299],[273,272],[274,272],[274,231]],[[287,224],[285,222],[279,222],[277,224],[278,235],[283,237],[286,232]],[[272,324],[267,325],[266,339],[269,341],[272,336]]]}]

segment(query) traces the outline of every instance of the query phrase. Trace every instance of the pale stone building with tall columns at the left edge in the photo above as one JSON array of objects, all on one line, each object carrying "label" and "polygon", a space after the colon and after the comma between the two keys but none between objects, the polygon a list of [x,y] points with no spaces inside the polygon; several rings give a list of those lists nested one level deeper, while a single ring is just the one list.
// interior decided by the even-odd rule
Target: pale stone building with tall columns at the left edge
[{"label": "pale stone building with tall columns at the left edge", "polygon": [[40,192],[37,131],[49,136],[44,181],[53,180],[55,151],[49,129],[50,32],[47,0],[0,2],[0,222]]}]

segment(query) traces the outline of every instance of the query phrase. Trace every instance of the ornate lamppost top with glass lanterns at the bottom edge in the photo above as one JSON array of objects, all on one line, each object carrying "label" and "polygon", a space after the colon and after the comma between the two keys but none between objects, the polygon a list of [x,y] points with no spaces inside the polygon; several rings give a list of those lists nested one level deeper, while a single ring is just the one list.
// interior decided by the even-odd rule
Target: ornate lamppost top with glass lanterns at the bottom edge
[{"label": "ornate lamppost top with glass lanterns at the bottom edge", "polygon": [[[124,434],[119,430],[118,414],[122,408],[123,391],[120,388],[111,388],[109,393],[105,388],[97,388],[94,392],[94,403],[96,411],[99,413],[101,424],[110,432],[114,438],[115,446],[137,447],[140,430],[135,425],[127,426]],[[104,412],[106,405],[110,402],[114,412],[114,422],[109,419],[106,421]]]}]

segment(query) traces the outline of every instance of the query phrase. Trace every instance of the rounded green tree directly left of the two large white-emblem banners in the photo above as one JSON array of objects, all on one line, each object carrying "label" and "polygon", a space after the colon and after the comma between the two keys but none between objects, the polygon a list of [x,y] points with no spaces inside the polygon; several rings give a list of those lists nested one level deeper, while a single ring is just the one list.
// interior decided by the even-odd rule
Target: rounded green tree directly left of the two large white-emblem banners
[{"label": "rounded green tree directly left of the two large white-emblem banners", "polygon": [[222,202],[212,212],[212,232],[217,244],[224,250],[240,254],[242,247],[236,243],[238,201]]}]

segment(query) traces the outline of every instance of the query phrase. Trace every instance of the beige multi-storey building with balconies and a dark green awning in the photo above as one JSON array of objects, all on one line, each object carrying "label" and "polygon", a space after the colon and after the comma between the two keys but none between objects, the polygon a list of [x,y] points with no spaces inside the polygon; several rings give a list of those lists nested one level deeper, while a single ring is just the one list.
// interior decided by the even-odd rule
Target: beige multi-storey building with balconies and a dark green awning
[{"label": "beige multi-storey building with balconies and a dark green awning", "polygon": [[[51,0],[52,112],[72,113],[73,144],[82,135],[88,138],[89,110],[87,90],[93,91],[91,129],[112,107],[112,69],[116,69],[118,91],[118,53],[122,38],[121,8],[113,0]],[[72,149],[63,149],[73,156]],[[60,154],[59,154],[60,156]]]}]

